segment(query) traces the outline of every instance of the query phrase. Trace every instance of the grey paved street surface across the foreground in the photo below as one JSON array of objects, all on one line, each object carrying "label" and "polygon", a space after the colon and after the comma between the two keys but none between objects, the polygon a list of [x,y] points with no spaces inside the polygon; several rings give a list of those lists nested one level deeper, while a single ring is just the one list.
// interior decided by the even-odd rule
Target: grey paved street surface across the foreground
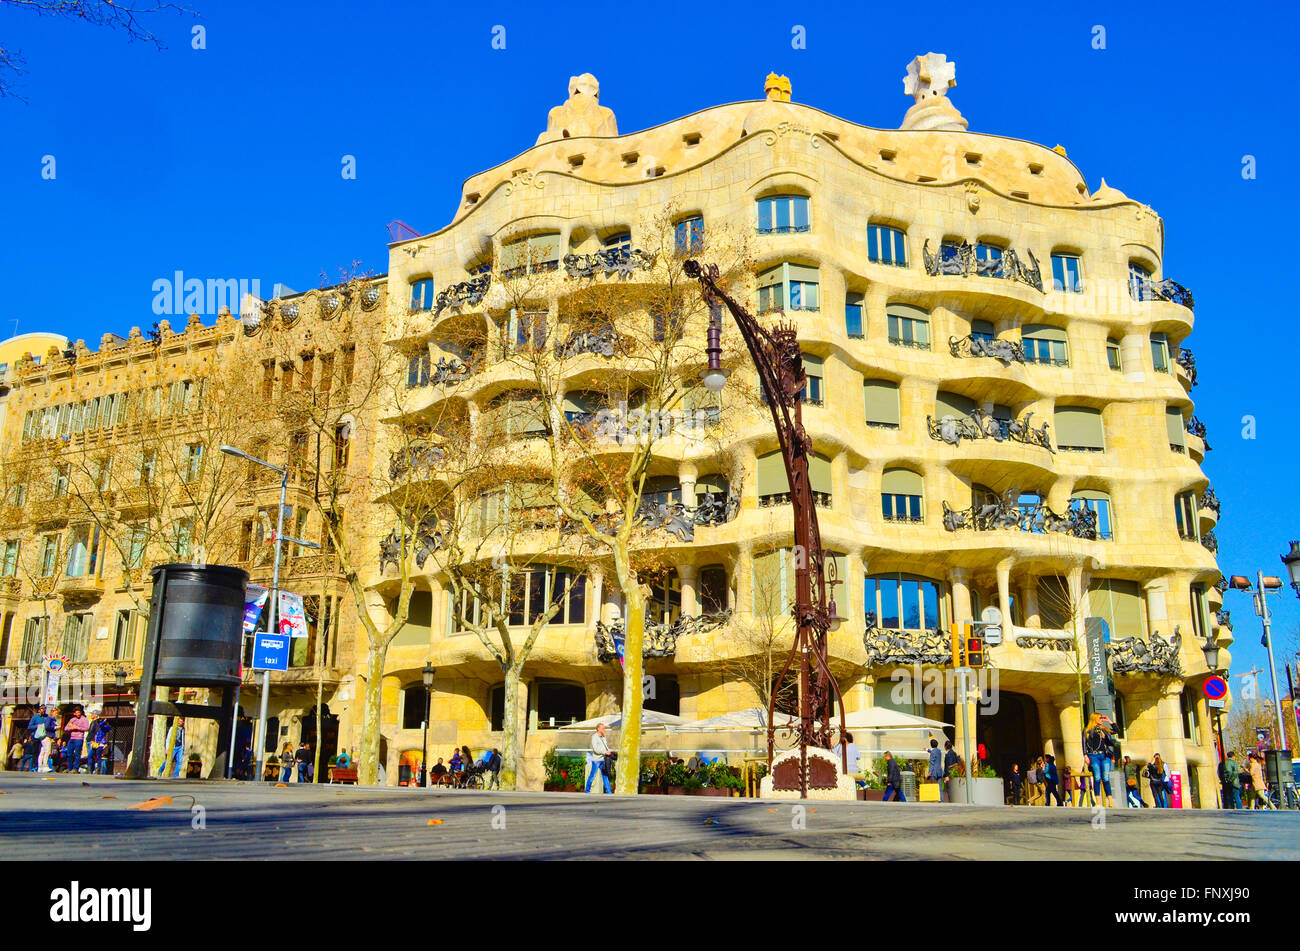
[{"label": "grey paved street surface across the foreground", "polygon": [[[797,828],[789,802],[696,796],[34,773],[0,773],[0,856],[8,860],[1300,856],[1300,812],[1108,809],[1095,818],[1088,808],[809,803]],[[153,796],[174,802],[127,809]],[[192,828],[191,796],[205,828]],[[433,818],[442,822],[429,825]]]}]

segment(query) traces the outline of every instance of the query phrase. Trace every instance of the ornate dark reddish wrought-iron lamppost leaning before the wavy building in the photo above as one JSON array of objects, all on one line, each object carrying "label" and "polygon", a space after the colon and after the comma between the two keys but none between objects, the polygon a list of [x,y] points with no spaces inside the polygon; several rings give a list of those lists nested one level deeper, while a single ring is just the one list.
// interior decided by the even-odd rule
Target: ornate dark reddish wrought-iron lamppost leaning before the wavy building
[{"label": "ornate dark reddish wrought-iron lamppost leaning before the wavy building", "polygon": [[[840,735],[845,734],[844,698],[831,676],[827,660],[827,633],[840,626],[832,589],[840,583],[835,578],[835,561],[829,563],[827,577],[826,552],[822,550],[822,531],[818,526],[816,507],[809,483],[809,452],[812,440],[803,430],[800,394],[807,385],[803,357],[800,353],[798,334],[793,325],[777,323],[772,330],[763,327],[731,295],[718,286],[718,265],[685,262],[686,277],[699,281],[705,303],[708,304],[708,368],[703,385],[720,392],[728,372],[722,365],[722,308],[725,307],[736,321],[745,346],[758,369],[759,381],[767,394],[772,425],[781,446],[785,476],[790,483],[790,507],[794,511],[794,644],[785,666],[776,679],[783,683],[790,666],[798,661],[800,685],[800,796],[809,794],[809,747],[831,748],[831,718],[835,703],[840,704]],[[832,696],[833,695],[833,696]],[[767,705],[767,767],[772,768],[776,742],[776,691]],[[841,769],[849,770],[848,744],[841,744]]]}]

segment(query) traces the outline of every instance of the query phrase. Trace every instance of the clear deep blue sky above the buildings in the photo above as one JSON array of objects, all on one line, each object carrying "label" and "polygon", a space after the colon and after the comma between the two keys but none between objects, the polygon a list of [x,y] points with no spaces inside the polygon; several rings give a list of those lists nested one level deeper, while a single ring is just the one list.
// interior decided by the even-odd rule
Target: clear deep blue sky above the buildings
[{"label": "clear deep blue sky above the buildings", "polygon": [[[29,103],[0,100],[0,336],[14,318],[91,346],[148,327],[152,282],[174,270],[268,292],[352,260],[382,272],[384,225],[445,225],[462,182],[528,148],[577,73],[599,78],[623,131],[760,97],[772,69],[797,101],[896,127],[906,64],[933,49],[957,62],[952,99],[971,130],[1061,143],[1091,187],[1105,175],[1160,212],[1166,274],[1196,295],[1187,343],[1221,565],[1282,573],[1300,538],[1294,6],[185,1],[202,18],[151,21],[162,52],[0,3],[0,38],[29,65]],[[339,174],[344,155],[356,181]],[[1287,642],[1300,602],[1274,603]],[[1234,670],[1264,666],[1249,599],[1225,607]]]}]

